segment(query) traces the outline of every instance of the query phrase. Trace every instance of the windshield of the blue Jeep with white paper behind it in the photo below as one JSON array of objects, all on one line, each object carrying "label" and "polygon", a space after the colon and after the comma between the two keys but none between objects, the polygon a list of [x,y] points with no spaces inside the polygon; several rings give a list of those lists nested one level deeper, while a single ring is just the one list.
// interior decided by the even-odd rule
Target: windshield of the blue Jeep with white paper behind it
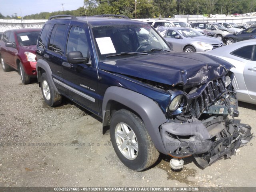
[{"label": "windshield of the blue Jeep with white paper behind it", "polygon": [[170,51],[162,37],[148,24],[109,25],[92,28],[100,61],[145,56]]}]

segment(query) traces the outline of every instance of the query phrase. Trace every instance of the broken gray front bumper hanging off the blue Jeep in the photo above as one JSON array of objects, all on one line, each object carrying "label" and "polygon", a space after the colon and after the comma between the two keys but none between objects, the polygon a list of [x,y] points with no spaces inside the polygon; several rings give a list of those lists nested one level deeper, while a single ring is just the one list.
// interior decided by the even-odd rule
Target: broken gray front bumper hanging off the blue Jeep
[{"label": "broken gray front bumper hanging off the blue Jeep", "polygon": [[250,130],[250,126],[239,124],[239,120],[234,122],[219,116],[204,121],[192,118],[187,122],[164,123],[160,134],[170,156],[193,155],[205,168],[224,156],[233,155],[243,142],[252,138]]}]

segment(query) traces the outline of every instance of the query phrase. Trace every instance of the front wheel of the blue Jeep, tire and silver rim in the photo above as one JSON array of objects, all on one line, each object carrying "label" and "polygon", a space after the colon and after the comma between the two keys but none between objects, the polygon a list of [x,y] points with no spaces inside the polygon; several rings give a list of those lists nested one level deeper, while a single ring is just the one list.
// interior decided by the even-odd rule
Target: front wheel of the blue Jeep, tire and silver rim
[{"label": "front wheel of the blue Jeep, tire and silver rim", "polygon": [[145,170],[159,157],[144,122],[128,110],[118,110],[112,116],[110,138],[118,158],[132,170]]}]

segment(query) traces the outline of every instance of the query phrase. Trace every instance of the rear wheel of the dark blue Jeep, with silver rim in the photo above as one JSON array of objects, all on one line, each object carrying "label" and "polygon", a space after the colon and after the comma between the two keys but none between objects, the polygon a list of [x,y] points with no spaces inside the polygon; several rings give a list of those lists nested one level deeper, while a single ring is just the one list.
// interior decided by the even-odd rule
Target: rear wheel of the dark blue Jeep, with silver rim
[{"label": "rear wheel of the dark blue Jeep, with silver rim", "polygon": [[40,83],[44,101],[51,107],[61,104],[62,96],[54,90],[46,73],[42,74]]}]

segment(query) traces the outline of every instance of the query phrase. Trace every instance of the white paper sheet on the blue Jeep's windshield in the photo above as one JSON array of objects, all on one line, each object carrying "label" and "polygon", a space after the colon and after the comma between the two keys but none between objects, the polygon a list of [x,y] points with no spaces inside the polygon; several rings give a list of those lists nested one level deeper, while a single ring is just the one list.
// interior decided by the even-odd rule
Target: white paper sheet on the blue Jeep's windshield
[{"label": "white paper sheet on the blue Jeep's windshield", "polygon": [[96,42],[100,49],[100,54],[116,53],[113,42],[110,37],[96,38]]}]

